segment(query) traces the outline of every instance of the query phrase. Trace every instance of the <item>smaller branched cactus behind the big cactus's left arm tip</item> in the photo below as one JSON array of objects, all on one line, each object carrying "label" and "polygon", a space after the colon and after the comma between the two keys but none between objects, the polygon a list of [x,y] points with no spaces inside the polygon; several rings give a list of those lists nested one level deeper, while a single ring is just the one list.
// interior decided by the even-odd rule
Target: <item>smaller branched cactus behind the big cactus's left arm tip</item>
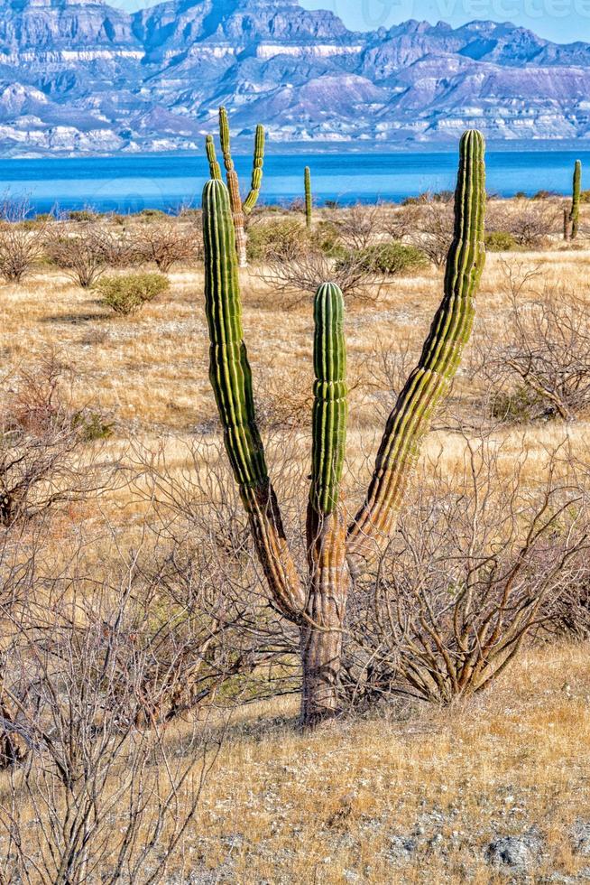
[{"label": "smaller branched cactus behind the big cactus's left arm tip", "polygon": [[[219,108],[219,138],[221,142],[221,152],[226,167],[227,190],[229,191],[229,199],[232,209],[232,219],[235,228],[235,248],[238,256],[240,267],[247,265],[246,247],[247,236],[245,230],[244,216],[249,215],[254,209],[260,196],[260,189],[263,183],[263,163],[264,163],[264,127],[256,126],[256,135],[254,137],[254,160],[252,167],[252,182],[250,192],[244,202],[240,194],[240,182],[235,172],[234,160],[231,151],[231,136],[229,133],[229,120],[225,107]],[[217,163],[217,155],[215,150],[215,142],[212,135],[207,135],[206,139],[207,160],[209,162],[209,170],[211,178],[214,181],[221,179],[221,168]]]}]

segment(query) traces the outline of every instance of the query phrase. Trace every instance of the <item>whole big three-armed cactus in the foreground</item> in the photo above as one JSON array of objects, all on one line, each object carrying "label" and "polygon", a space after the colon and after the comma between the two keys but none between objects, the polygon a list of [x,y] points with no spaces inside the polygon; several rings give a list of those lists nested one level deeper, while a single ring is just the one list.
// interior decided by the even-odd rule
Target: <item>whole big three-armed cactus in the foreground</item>
[{"label": "whole big three-armed cactus in the foreground", "polygon": [[[455,235],[442,302],[418,366],[387,422],[364,505],[348,528],[340,483],[346,443],[346,349],[342,293],[319,287],[314,303],[313,442],[309,489],[308,575],[300,579],[281,524],[254,414],[252,377],[242,340],[235,235],[226,186],[203,194],[210,377],[226,449],[272,602],[300,628],[302,716],[313,724],[338,709],[338,674],[350,573],[377,556],[392,534],[404,483],[435,406],[456,373],[469,338],[484,268],[484,138],[467,132],[459,148]],[[307,589],[303,589],[305,588]]]}]

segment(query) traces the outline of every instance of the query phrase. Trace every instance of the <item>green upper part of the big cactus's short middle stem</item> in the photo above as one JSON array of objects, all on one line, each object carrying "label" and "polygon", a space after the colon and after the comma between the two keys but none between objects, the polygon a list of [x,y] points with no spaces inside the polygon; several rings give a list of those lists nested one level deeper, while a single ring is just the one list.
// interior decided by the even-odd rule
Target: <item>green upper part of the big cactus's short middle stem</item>
[{"label": "green upper part of the big cactus's short middle stem", "polygon": [[319,286],[314,319],[316,381],[309,501],[318,514],[327,516],[334,512],[338,503],[348,411],[344,297],[336,284]]}]

